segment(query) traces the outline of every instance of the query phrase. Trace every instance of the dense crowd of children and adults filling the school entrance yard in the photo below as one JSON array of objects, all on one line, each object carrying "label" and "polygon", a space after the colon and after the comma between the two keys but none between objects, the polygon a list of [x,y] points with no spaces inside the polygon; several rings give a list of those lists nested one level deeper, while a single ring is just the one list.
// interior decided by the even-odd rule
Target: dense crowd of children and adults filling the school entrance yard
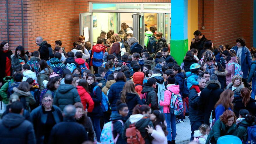
[{"label": "dense crowd of children and adults filling the school entrance yard", "polygon": [[195,143],[255,142],[255,48],[193,34],[181,65],[154,26],[144,46],[127,24],[95,44],[80,35],[69,52],[40,36],[37,51],[1,42],[0,143],[175,144],[186,116]]}]

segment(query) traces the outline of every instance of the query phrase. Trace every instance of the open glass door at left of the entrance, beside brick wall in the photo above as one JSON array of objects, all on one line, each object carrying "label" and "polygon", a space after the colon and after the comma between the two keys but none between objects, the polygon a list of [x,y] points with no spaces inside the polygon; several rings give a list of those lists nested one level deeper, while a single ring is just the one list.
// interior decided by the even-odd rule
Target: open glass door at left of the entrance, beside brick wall
[{"label": "open glass door at left of the entrance, beside brick wall", "polygon": [[80,13],[79,14],[79,29],[80,35],[85,36],[85,41],[93,44],[93,13]]}]

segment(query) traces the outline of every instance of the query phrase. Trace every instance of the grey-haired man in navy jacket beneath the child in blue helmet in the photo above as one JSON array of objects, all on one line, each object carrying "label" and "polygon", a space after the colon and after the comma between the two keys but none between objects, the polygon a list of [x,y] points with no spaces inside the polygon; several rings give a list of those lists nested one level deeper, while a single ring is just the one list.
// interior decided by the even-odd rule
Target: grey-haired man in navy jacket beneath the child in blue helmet
[{"label": "grey-haired man in navy jacket beneath the child in blue helmet", "polygon": [[[203,90],[206,86],[205,78],[199,77],[197,81],[201,83],[201,85],[199,85],[200,91]],[[193,141],[194,139],[194,131],[198,130],[200,125],[204,123],[204,111],[202,111],[198,105],[199,99],[198,91],[195,87],[191,87],[189,91],[189,120],[191,126],[190,141]]]}]

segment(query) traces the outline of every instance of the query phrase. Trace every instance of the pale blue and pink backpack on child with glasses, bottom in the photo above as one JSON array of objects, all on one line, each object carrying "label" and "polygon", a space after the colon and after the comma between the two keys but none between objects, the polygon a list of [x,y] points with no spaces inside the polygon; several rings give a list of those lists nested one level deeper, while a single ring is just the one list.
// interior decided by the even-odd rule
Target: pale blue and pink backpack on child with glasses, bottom
[{"label": "pale blue and pink backpack on child with glasses, bottom", "polygon": [[[122,126],[124,126],[124,122],[122,120],[117,120],[122,123]],[[117,134],[117,136],[114,138],[113,136],[113,121],[107,122],[104,124],[103,129],[100,134],[100,142],[101,144],[115,144],[118,137],[120,135]]]}]

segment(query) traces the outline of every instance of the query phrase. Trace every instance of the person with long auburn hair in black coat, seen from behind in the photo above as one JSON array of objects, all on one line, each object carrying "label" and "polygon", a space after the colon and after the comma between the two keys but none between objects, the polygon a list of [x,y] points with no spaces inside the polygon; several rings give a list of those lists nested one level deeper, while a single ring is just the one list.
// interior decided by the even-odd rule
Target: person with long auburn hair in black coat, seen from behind
[{"label": "person with long auburn hair in black coat, seen from behind", "polygon": [[250,90],[248,88],[241,89],[241,99],[235,101],[234,113],[238,117],[241,109],[246,109],[251,115],[256,115],[256,100],[250,97]]}]

